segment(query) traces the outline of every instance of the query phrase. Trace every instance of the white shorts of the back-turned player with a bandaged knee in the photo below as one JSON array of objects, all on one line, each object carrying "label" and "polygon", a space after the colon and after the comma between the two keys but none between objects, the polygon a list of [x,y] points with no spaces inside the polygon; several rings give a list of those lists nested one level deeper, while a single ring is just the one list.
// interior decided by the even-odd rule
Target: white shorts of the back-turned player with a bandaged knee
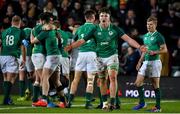
[{"label": "white shorts of the back-turned player with a bandaged knee", "polygon": [[96,72],[98,70],[96,53],[95,52],[79,52],[75,70]]}]

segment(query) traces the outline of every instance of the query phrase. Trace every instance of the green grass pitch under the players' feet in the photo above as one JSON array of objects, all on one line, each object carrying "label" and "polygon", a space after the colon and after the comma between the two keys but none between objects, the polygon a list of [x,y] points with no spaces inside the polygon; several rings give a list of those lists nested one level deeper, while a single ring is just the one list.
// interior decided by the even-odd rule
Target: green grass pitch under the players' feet
[{"label": "green grass pitch under the players' feet", "polygon": [[[85,109],[85,98],[75,97],[72,108],[40,108],[32,107],[31,101],[16,101],[17,96],[13,96],[15,105],[4,106],[0,104],[0,113],[149,113],[147,110],[155,104],[155,99],[146,99],[147,108],[140,111],[132,110],[138,102],[138,99],[134,98],[121,98],[121,109],[113,110],[111,112],[103,111],[101,109]],[[2,96],[0,96],[2,102]],[[96,107],[99,103],[98,98],[93,102],[93,106]],[[162,100],[161,102],[162,113],[180,113],[180,100]]]}]

